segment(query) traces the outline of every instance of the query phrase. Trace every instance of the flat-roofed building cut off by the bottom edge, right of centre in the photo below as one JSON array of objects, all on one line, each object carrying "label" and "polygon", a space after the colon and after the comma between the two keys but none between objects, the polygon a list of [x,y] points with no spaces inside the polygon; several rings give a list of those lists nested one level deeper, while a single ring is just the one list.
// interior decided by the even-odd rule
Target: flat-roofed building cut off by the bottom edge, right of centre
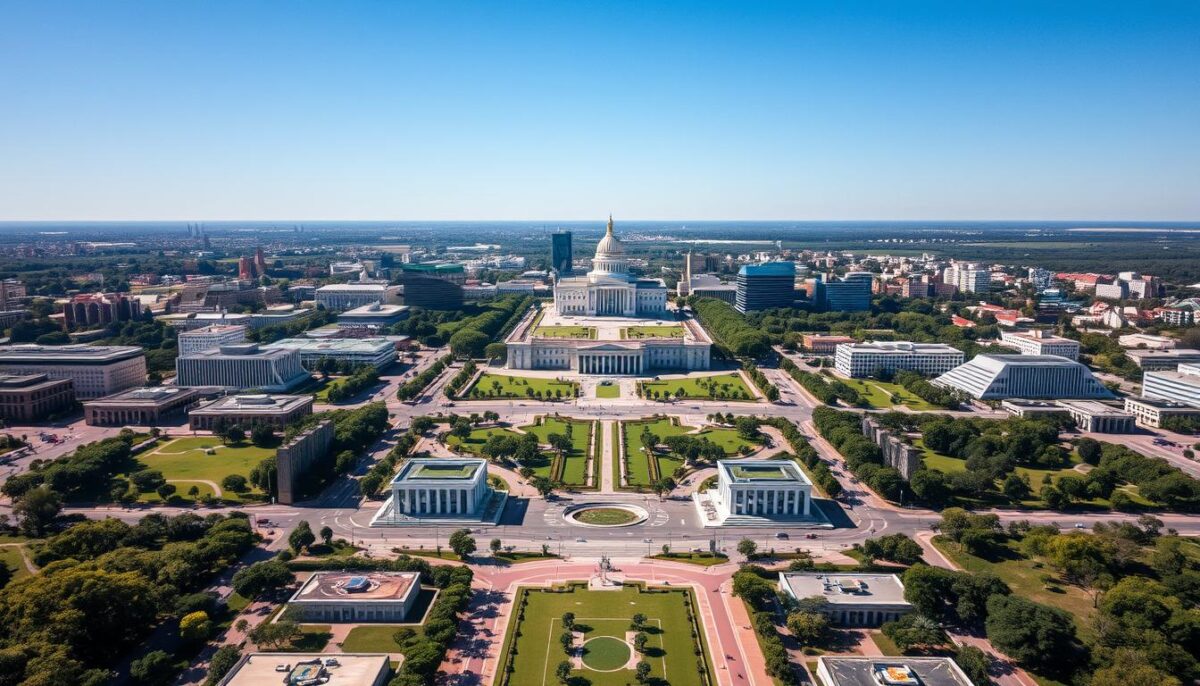
[{"label": "flat-roofed building cut off by the bottom edge, right of centre", "polygon": [[817,657],[821,686],[976,686],[949,657]]}]

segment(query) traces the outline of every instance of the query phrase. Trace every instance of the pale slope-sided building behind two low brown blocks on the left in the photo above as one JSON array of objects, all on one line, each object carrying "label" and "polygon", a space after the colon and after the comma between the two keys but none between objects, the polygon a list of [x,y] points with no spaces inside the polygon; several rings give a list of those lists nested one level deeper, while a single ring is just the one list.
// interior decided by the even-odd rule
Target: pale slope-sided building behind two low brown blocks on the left
[{"label": "pale slope-sided building behind two low brown blocks on the left", "polygon": [[300,365],[300,351],[277,343],[272,348],[238,343],[175,359],[178,386],[287,392],[308,379],[308,372]]}]

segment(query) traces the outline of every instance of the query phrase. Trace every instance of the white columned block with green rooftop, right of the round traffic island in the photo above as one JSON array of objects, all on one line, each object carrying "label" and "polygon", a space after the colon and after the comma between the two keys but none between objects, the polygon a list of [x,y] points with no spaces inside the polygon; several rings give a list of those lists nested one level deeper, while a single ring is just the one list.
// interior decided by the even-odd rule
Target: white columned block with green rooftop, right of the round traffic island
[{"label": "white columned block with green rooftop, right of the round traffic island", "polygon": [[[812,482],[791,461],[719,459],[714,505],[724,524],[738,517],[810,516]],[[734,522],[731,522],[731,518]]]}]

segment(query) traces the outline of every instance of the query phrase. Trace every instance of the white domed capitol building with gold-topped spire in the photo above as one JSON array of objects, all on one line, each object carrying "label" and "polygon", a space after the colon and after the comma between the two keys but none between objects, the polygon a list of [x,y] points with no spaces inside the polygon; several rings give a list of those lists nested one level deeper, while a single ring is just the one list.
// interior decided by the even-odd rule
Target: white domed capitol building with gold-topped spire
[{"label": "white domed capitol building with gold-topped spire", "polygon": [[612,233],[612,216],[587,276],[554,284],[554,308],[565,317],[662,317],[667,287],[660,278],[629,273],[625,246]]}]

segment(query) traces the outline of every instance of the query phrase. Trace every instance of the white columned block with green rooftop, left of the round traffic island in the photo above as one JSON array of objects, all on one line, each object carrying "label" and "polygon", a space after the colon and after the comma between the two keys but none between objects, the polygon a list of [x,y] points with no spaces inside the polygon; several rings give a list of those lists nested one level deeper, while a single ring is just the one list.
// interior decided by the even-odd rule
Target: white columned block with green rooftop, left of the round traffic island
[{"label": "white columned block with green rooftop, left of the round traffic island", "polygon": [[487,462],[474,458],[414,458],[391,480],[398,514],[479,518],[491,498]]}]

